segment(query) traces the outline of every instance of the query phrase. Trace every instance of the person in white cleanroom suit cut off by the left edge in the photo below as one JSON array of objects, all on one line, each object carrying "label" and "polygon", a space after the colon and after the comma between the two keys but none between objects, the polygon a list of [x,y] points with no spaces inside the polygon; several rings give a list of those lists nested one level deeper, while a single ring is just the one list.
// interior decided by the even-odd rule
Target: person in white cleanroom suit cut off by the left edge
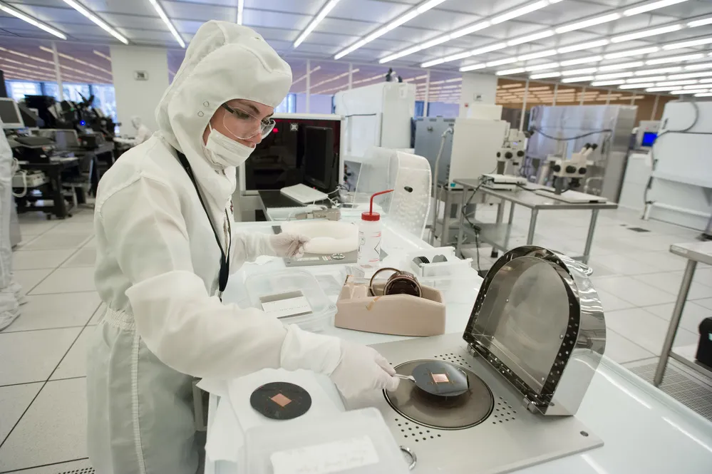
[{"label": "person in white cleanroom suit cut off by the left edge", "polygon": [[12,150],[5,134],[0,133],[0,331],[20,315],[20,304],[25,302],[12,274],[12,205]]}]

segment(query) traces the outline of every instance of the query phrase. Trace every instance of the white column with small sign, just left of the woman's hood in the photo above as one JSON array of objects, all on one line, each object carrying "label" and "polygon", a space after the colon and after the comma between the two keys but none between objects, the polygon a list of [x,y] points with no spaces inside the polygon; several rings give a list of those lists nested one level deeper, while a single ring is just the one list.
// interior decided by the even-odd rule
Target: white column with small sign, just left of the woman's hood
[{"label": "white column with small sign, just left of the woman's hood", "polygon": [[[158,130],[155,110],[168,87],[165,48],[111,46],[111,73],[116,93],[116,114],[121,130],[131,130],[138,115],[151,130]],[[143,78],[139,79],[141,73]]]}]

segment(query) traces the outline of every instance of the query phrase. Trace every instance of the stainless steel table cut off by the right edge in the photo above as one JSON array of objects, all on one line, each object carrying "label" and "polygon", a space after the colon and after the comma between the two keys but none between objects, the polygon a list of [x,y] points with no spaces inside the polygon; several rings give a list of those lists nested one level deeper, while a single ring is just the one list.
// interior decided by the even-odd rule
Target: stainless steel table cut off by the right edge
[{"label": "stainless steel table cut off by the right edge", "polygon": [[712,378],[711,369],[701,364],[698,364],[698,362],[694,359],[688,359],[687,357],[682,356],[681,354],[676,354],[672,350],[672,345],[675,341],[675,335],[677,334],[677,329],[680,326],[682,311],[685,309],[685,302],[687,301],[687,295],[690,291],[690,285],[692,284],[692,279],[695,276],[697,262],[712,265],[712,242],[689,242],[686,244],[672,244],[670,246],[670,252],[679,255],[680,257],[685,257],[687,259],[687,267],[685,267],[685,273],[682,276],[680,291],[677,294],[677,301],[675,302],[675,308],[673,309],[673,314],[670,319],[670,326],[668,326],[668,334],[665,336],[663,351],[662,354],[660,354],[658,368],[655,371],[655,378],[653,378],[653,383],[655,386],[659,386],[660,383],[663,381],[663,376],[665,375],[665,368],[668,364],[668,359],[670,358],[681,362],[682,364],[688,366],[694,371],[698,371],[699,373],[703,373],[709,378]]}]

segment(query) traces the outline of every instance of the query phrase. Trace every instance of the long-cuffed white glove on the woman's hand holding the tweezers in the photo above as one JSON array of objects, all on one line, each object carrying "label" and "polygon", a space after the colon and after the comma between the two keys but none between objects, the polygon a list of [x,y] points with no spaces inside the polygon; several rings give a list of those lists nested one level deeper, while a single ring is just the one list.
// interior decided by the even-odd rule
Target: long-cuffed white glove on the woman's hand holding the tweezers
[{"label": "long-cuffed white glove on the woman's hand holding the tweezers", "polygon": [[287,326],[280,365],[287,370],[309,369],[331,377],[341,394],[352,398],[371,390],[393,391],[400,379],[375,349],[338,337],[323,336]]}]

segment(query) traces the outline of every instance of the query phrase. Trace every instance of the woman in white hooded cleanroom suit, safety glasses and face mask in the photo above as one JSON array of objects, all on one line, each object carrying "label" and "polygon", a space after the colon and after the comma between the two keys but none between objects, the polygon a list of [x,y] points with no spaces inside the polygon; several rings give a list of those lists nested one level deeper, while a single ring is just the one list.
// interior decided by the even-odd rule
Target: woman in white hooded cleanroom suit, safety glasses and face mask
[{"label": "woman in white hooded cleanroom suit, safety glasses and face mask", "polygon": [[235,167],[272,130],[270,116],[290,86],[289,65],[261,36],[207,22],[158,105],[158,132],[99,184],[95,280],[107,309],[87,371],[97,473],[194,474],[195,377],[283,367],[328,374],[346,397],[398,386],[371,348],[218,297],[223,252],[234,272],[259,255],[298,254],[306,242],[239,232],[230,200]]}]

